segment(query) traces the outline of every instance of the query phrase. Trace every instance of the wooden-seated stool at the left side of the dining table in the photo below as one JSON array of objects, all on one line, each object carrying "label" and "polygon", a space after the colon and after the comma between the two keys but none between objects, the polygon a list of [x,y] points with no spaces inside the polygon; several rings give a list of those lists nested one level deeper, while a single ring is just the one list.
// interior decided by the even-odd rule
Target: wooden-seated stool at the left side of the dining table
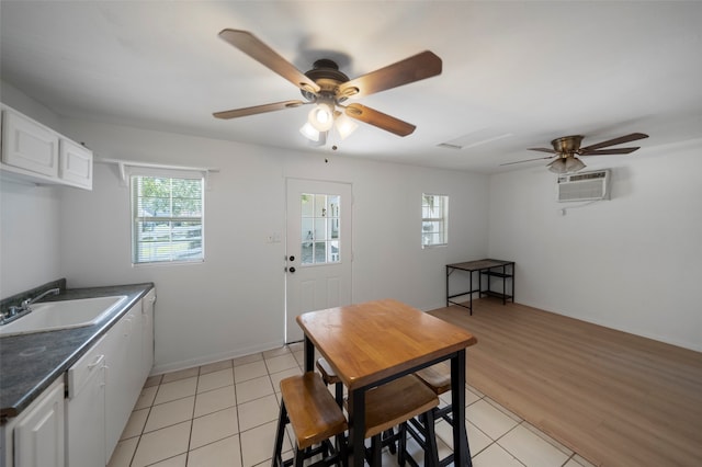
[{"label": "wooden-seated stool at the left side of the dining table", "polygon": [[[307,372],[283,379],[281,397],[272,466],[283,467],[294,463],[295,467],[302,467],[305,458],[322,454],[324,458],[314,466],[341,464],[346,467],[348,454],[343,433],[348,429],[347,419],[319,375]],[[293,459],[283,462],[283,435],[287,423],[295,434],[295,455]],[[338,448],[329,442],[332,436]],[[315,444],[320,446],[313,449]]]}]

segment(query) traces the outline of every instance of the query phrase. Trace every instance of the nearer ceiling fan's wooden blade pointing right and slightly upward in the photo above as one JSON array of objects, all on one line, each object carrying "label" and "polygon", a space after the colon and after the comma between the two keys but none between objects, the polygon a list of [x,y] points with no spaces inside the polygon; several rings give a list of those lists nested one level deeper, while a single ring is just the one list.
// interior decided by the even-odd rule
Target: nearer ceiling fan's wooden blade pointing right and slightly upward
[{"label": "nearer ceiling fan's wooden blade pointing right and slightly upward", "polygon": [[339,86],[338,96],[361,98],[441,75],[441,58],[429,50]]}]

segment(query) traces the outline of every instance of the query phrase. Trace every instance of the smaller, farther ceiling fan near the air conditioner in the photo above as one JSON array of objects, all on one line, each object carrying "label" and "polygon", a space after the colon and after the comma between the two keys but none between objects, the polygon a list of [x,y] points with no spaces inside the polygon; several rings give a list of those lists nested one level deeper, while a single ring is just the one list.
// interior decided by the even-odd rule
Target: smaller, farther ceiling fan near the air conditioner
[{"label": "smaller, farther ceiling fan near the air conditioner", "polygon": [[614,139],[608,139],[607,141],[598,143],[596,145],[590,145],[585,148],[580,147],[580,143],[582,141],[582,138],[584,136],[581,135],[564,136],[562,138],[556,138],[553,141],[551,141],[553,149],[529,148],[530,151],[548,152],[548,153],[552,153],[553,156],[520,160],[517,162],[507,162],[507,163],[501,163],[500,166],[511,166],[513,163],[529,162],[532,160],[553,159],[555,157],[557,159],[546,166],[550,171],[555,173],[577,172],[578,170],[584,169],[586,166],[576,156],[627,155],[630,152],[634,152],[636,149],[639,149],[639,147],[610,148],[610,149],[603,149],[603,148],[607,148],[609,146],[621,145],[623,143],[635,141],[637,139],[648,138],[648,135],[644,135],[643,133],[632,133],[631,135],[620,136],[619,138],[614,138]]}]

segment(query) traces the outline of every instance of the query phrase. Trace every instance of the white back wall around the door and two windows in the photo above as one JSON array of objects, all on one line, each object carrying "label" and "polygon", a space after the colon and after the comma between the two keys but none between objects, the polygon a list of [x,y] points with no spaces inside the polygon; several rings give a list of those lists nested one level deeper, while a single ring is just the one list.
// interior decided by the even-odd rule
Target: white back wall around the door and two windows
[{"label": "white back wall around the door and two windows", "polygon": [[[152,281],[157,371],[283,343],[285,178],[350,182],[353,300],[394,297],[421,309],[444,304],[444,264],[487,252],[484,175],[294,153],[81,121],[65,133],[101,158],[214,167],[206,192],[202,264],[131,264],[128,191],[116,166],[95,164],[93,191],[64,190],[61,273],[71,287]],[[329,155],[327,155],[329,156]],[[451,197],[450,247],[422,250],[421,193]]]}]

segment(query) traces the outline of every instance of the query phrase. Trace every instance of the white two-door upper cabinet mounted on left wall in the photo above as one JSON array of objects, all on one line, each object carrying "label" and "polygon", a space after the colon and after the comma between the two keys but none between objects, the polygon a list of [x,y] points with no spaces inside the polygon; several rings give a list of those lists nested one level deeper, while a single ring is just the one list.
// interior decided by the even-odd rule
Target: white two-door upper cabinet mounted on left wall
[{"label": "white two-door upper cabinet mounted on left wall", "polygon": [[92,151],[4,105],[0,168],[34,183],[92,190]]}]

